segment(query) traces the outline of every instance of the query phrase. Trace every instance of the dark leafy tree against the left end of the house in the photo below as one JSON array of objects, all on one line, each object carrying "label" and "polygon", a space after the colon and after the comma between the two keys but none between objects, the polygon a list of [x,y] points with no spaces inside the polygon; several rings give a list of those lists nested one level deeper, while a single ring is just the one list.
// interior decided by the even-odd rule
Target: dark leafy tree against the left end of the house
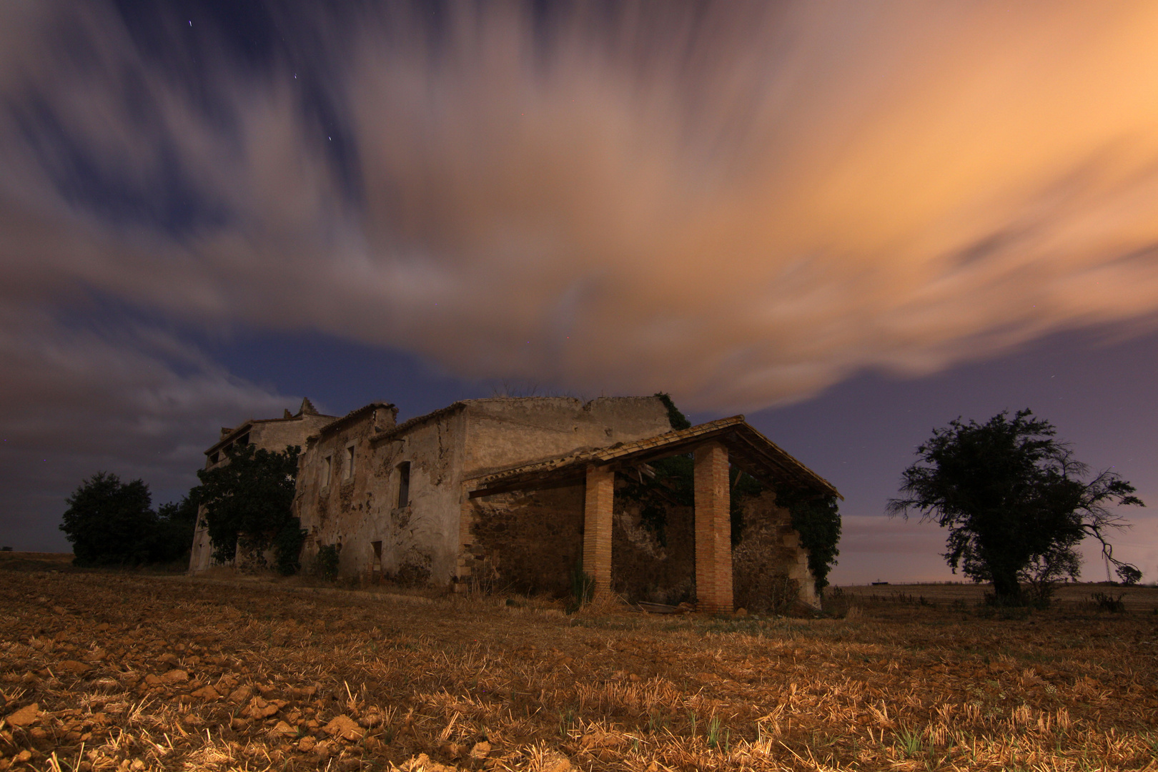
[{"label": "dark leafy tree against the left end of the house", "polygon": [[300,451],[296,446],[281,453],[234,446],[227,463],[197,472],[214,560],[233,560],[240,542],[256,554],[273,546],[278,568],[296,571],[302,531],[291,507]]}]

